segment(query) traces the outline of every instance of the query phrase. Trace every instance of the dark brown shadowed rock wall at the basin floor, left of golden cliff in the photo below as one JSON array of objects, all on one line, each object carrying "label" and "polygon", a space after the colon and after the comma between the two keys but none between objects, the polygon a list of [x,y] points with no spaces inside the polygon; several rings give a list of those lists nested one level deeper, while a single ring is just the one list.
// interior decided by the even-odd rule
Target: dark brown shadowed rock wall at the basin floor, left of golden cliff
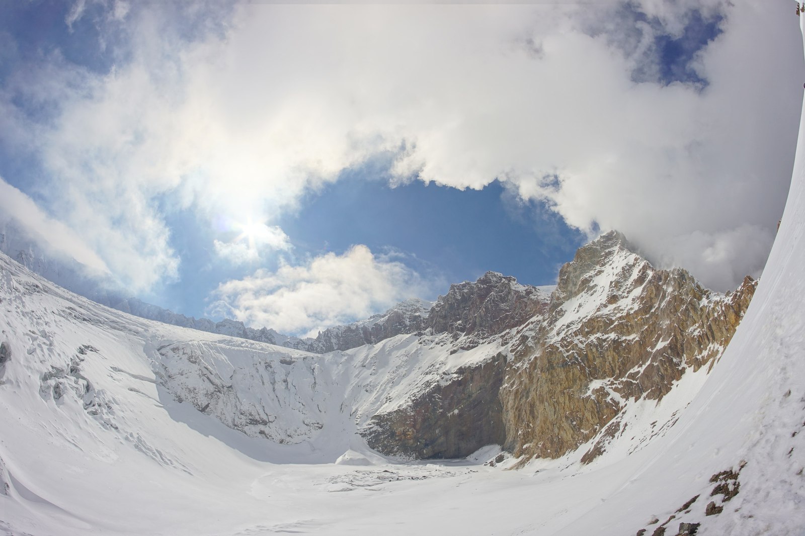
[{"label": "dark brown shadowed rock wall at the basin floor, left of golden cliff", "polygon": [[497,396],[506,357],[498,354],[415,398],[375,415],[364,431],[369,447],[406,458],[461,458],[506,438]]}]

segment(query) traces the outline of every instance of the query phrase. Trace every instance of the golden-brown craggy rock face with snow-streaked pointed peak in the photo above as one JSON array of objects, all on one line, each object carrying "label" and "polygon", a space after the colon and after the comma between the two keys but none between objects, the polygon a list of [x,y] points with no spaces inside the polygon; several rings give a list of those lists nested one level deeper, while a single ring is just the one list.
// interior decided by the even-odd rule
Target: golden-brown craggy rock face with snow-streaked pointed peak
[{"label": "golden-brown craggy rock face with snow-streaked pointed peak", "polygon": [[[500,396],[507,449],[558,457],[606,427],[625,400],[659,399],[723,351],[756,283],[720,295],[686,270],[655,270],[617,232],[559,272],[550,311],[512,345]],[[605,450],[611,425],[585,461]]]}]

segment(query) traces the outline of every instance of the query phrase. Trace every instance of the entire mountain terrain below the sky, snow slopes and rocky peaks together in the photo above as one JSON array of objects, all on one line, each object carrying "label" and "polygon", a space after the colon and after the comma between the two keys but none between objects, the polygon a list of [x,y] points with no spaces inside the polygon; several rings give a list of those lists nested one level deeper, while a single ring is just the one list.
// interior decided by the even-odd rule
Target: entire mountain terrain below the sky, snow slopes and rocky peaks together
[{"label": "entire mountain terrain below the sky, snow slopes and rocky peaks together", "polygon": [[486,274],[324,354],[0,255],[0,534],[803,534],[803,140],[757,283],[605,233],[550,293]]}]

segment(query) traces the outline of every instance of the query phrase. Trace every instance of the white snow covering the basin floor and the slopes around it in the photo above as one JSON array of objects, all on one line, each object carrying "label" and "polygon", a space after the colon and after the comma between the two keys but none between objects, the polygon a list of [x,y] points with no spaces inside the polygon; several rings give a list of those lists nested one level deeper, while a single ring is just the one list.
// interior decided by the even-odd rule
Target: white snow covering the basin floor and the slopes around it
[{"label": "white snow covering the basin floor and the slopes around it", "polygon": [[446,355],[402,335],[320,356],[138,319],[2,255],[0,534],[805,534],[803,128],[732,343],[629,406],[587,465],[592,441],[518,471],[485,464],[496,446],[438,463],[366,447],[373,414],[497,343]]}]

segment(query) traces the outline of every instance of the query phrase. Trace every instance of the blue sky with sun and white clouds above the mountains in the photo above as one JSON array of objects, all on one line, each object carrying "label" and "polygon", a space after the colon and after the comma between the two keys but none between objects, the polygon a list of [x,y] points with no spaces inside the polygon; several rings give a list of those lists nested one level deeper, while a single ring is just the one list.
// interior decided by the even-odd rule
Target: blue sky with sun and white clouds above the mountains
[{"label": "blue sky with sun and white clouds above the mountains", "polygon": [[187,315],[315,335],[608,229],[728,291],[791,179],[787,0],[0,12],[0,223]]}]

